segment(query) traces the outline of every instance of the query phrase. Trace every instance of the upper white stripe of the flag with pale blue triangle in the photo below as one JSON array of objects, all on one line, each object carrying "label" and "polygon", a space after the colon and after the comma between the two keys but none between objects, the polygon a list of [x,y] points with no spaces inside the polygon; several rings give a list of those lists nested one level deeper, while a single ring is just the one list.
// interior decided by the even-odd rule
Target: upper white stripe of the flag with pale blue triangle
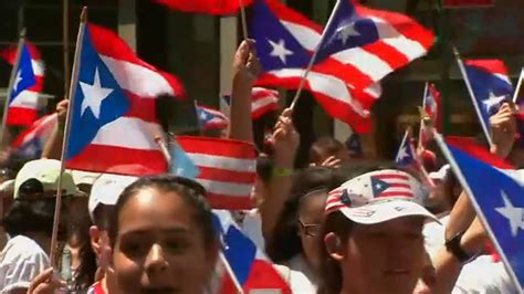
[{"label": "upper white stripe of the flag with pale blue triangle", "polygon": [[196,166],[218,168],[238,172],[255,172],[256,162],[253,159],[238,159],[217,155],[188,153]]}]

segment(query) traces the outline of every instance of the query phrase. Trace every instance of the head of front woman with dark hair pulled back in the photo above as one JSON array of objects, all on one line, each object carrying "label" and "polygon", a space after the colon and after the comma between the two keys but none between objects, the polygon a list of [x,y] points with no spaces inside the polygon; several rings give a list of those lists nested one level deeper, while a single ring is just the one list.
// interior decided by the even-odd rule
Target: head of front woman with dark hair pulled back
[{"label": "head of front woman with dark hair pulled back", "polygon": [[219,242],[198,183],[175,176],[137,180],[109,220],[112,271],[122,293],[203,293]]}]

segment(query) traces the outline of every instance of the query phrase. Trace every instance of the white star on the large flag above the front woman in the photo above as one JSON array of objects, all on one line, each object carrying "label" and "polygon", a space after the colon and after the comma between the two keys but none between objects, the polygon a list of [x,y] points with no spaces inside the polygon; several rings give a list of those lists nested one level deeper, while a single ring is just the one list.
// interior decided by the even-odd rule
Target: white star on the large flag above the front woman
[{"label": "white star on the large flag above the front woman", "polygon": [[113,93],[114,90],[102,87],[98,67],[95,69],[93,85],[80,82],[80,87],[82,88],[82,93],[84,94],[81,115],[83,116],[85,111],[90,108],[93,115],[98,119],[101,116],[102,102],[107,98],[107,96],[109,96],[109,94]]}]

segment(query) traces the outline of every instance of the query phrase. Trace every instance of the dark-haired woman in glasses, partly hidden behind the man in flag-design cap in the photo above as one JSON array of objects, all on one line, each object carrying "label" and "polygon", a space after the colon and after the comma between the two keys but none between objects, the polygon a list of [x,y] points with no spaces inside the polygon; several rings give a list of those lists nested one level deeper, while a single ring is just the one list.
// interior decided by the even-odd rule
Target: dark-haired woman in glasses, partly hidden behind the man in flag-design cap
[{"label": "dark-haired woman in glasses, partly hidden behind the man in flag-design cap", "polygon": [[333,169],[312,167],[300,172],[270,242],[268,255],[280,266],[294,293],[316,290],[319,259],[317,238],[327,191],[344,182]]}]

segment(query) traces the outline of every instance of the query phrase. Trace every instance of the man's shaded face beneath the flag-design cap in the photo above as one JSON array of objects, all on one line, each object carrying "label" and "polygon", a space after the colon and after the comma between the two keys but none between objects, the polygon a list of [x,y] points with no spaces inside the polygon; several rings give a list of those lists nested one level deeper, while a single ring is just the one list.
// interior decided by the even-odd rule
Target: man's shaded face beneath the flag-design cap
[{"label": "man's shaded face beneath the flag-design cap", "polygon": [[423,270],[422,225],[419,217],[357,224],[340,261],[344,279],[359,293],[412,293]]}]

